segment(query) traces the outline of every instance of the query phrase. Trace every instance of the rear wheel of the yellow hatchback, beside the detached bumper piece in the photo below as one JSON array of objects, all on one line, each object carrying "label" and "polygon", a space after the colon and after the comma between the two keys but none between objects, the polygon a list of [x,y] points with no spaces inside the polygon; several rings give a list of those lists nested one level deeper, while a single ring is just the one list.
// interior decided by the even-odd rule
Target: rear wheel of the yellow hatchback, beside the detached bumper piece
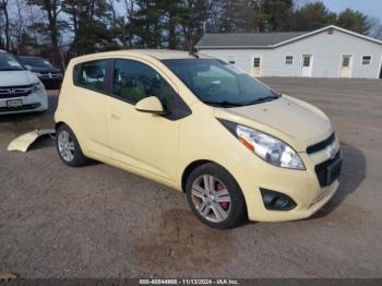
[{"label": "rear wheel of the yellow hatchback, beside the detached bumper piece", "polygon": [[61,160],[67,166],[81,167],[87,163],[79,140],[67,124],[59,126],[56,131],[56,147]]}]

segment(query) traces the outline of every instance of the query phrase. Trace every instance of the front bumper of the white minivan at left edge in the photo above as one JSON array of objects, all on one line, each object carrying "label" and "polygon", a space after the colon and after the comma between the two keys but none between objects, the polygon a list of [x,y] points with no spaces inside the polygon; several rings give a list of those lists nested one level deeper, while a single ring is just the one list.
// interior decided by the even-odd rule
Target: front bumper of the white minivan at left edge
[{"label": "front bumper of the white minivan at left edge", "polygon": [[[22,106],[8,107],[8,100],[22,100]],[[39,112],[48,109],[48,96],[45,91],[32,93],[27,96],[0,98],[0,115]]]}]

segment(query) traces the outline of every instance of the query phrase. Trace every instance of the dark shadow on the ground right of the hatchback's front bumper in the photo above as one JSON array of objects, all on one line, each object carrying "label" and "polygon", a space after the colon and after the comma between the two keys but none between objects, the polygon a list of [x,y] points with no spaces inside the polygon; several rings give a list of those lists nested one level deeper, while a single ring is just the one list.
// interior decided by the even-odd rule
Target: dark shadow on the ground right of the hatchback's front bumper
[{"label": "dark shadow on the ground right of the hatchback's front bumper", "polygon": [[332,200],[311,217],[312,219],[330,215],[349,194],[356,192],[366,179],[367,159],[362,151],[353,145],[342,143],[342,152],[344,165],[339,178],[339,188]]}]

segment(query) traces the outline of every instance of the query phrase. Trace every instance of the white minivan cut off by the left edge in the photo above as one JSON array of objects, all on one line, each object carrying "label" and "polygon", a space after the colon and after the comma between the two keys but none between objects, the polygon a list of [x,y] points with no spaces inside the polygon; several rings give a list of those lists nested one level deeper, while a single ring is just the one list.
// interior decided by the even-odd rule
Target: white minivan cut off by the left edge
[{"label": "white minivan cut off by the left edge", "polygon": [[48,96],[40,80],[13,55],[0,50],[0,115],[47,109]]}]

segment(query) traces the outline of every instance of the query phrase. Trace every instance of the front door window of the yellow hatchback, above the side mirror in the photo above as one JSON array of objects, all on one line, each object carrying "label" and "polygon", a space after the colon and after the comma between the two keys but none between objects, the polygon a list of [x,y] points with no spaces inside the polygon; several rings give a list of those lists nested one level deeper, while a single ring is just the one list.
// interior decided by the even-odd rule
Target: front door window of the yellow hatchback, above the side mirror
[{"label": "front door window of the yellow hatchback, above the side mirror", "polygon": [[151,67],[132,60],[116,60],[112,94],[131,104],[156,96],[167,110],[174,108],[172,87]]}]

